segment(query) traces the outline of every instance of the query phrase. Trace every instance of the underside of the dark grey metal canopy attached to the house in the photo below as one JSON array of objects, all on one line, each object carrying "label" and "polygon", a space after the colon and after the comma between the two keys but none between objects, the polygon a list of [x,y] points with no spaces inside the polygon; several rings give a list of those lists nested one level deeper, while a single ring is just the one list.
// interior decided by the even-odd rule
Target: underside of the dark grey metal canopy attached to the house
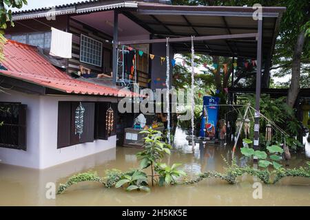
[{"label": "underside of the dark grey metal canopy attached to the house", "polygon": [[[258,22],[253,19],[254,9],[249,7],[163,5],[138,2],[137,10],[123,12],[127,17],[149,31],[155,39],[169,36],[216,36],[251,34],[258,32]],[[285,8],[262,8],[262,58],[273,52],[278,26]],[[171,44],[174,52],[188,53],[189,42]],[[214,39],[195,41],[195,51],[200,54],[238,56],[256,59],[256,37],[244,39]]]}]

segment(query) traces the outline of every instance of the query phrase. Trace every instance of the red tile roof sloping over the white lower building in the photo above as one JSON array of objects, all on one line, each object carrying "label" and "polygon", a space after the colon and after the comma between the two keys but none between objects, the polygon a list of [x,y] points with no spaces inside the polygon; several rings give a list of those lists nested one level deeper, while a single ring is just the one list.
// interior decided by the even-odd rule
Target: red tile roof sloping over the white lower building
[{"label": "red tile roof sloping over the white lower building", "polygon": [[132,96],[131,92],[105,87],[71,78],[65,72],[51,65],[37,50],[37,47],[8,40],[3,47],[5,60],[1,64],[8,70],[0,74],[49,87],[68,94],[90,94],[101,96]]}]

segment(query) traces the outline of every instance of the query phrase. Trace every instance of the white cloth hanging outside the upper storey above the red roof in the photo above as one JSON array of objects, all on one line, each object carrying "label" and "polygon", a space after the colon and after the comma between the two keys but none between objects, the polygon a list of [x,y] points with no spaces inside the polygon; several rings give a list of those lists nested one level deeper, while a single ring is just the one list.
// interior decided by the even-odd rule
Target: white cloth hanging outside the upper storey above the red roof
[{"label": "white cloth hanging outside the upper storey above the red roof", "polygon": [[50,55],[72,58],[72,34],[52,28]]}]

